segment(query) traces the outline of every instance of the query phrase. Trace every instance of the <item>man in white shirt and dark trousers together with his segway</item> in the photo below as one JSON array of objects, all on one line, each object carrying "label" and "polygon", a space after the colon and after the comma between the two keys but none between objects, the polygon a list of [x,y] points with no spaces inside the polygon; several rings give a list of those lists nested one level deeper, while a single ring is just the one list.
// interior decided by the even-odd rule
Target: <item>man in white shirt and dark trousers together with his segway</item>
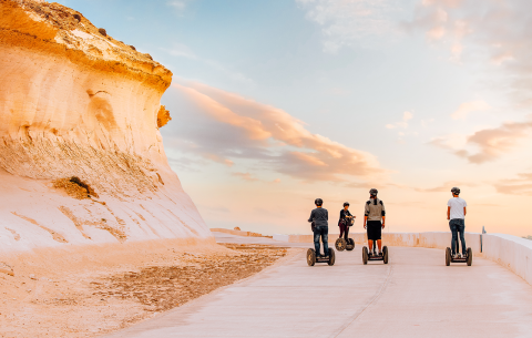
[{"label": "man in white shirt and dark trousers together with his segway", "polygon": [[[471,248],[466,249],[466,214],[468,203],[460,198],[460,188],[451,188],[452,198],[447,203],[447,219],[449,221],[449,228],[452,233],[451,247],[446,249],[446,265],[452,263],[467,263],[471,266],[473,260],[473,253]],[[460,254],[458,234],[460,233],[460,242],[462,244],[462,254]]]}]

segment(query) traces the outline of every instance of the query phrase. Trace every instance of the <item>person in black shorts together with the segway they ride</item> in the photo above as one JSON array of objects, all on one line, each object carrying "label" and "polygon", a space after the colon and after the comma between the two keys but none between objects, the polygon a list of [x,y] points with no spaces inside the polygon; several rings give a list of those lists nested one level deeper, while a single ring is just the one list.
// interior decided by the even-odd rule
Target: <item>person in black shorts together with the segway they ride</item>
[{"label": "person in black shorts together with the segway they ride", "polygon": [[[366,202],[364,208],[364,228],[368,234],[368,247],[362,248],[362,262],[368,264],[368,260],[383,260],[388,264],[388,247],[382,247],[382,229],[386,223],[385,203],[377,198],[379,192],[376,188],[369,191],[369,201]],[[381,222],[382,221],[382,222]],[[375,250],[375,243],[379,247],[379,253]]]}]

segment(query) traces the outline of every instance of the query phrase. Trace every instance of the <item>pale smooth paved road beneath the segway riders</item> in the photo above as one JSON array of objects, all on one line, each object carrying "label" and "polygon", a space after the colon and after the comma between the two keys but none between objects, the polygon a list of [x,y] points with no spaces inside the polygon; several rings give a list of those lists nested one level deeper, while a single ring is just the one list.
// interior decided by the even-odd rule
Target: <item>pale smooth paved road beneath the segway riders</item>
[{"label": "pale smooth paved road beneath the segway riders", "polygon": [[532,286],[495,263],[447,267],[442,249],[406,247],[361,260],[357,247],[308,267],[301,253],[108,337],[532,337]]}]

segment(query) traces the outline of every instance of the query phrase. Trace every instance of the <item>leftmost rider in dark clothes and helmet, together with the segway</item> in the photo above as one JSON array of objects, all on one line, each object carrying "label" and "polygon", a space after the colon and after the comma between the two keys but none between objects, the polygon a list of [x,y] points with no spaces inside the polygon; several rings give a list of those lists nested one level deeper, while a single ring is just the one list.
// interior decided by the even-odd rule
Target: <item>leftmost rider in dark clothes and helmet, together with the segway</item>
[{"label": "leftmost rider in dark clothes and helmet, together with the segway", "polygon": [[[328,244],[328,234],[329,234],[329,213],[326,208],[321,207],[324,201],[321,198],[316,198],[314,201],[316,208],[310,213],[310,222],[314,232],[314,249],[309,248],[307,250],[307,264],[314,266],[316,263],[327,263],[328,265],[335,264],[335,250],[329,248]],[[324,244],[324,255],[319,253],[319,238],[321,237],[321,243]]]}]

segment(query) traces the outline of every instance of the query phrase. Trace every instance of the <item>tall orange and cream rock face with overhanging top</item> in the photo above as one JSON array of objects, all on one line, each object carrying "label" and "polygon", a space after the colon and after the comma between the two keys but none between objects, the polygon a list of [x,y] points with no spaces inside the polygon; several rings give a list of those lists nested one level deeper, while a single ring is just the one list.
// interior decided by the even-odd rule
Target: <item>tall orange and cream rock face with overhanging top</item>
[{"label": "tall orange and cream rock face with overhanging top", "polygon": [[70,8],[0,0],[0,250],[211,240],[158,132],[171,81]]}]

